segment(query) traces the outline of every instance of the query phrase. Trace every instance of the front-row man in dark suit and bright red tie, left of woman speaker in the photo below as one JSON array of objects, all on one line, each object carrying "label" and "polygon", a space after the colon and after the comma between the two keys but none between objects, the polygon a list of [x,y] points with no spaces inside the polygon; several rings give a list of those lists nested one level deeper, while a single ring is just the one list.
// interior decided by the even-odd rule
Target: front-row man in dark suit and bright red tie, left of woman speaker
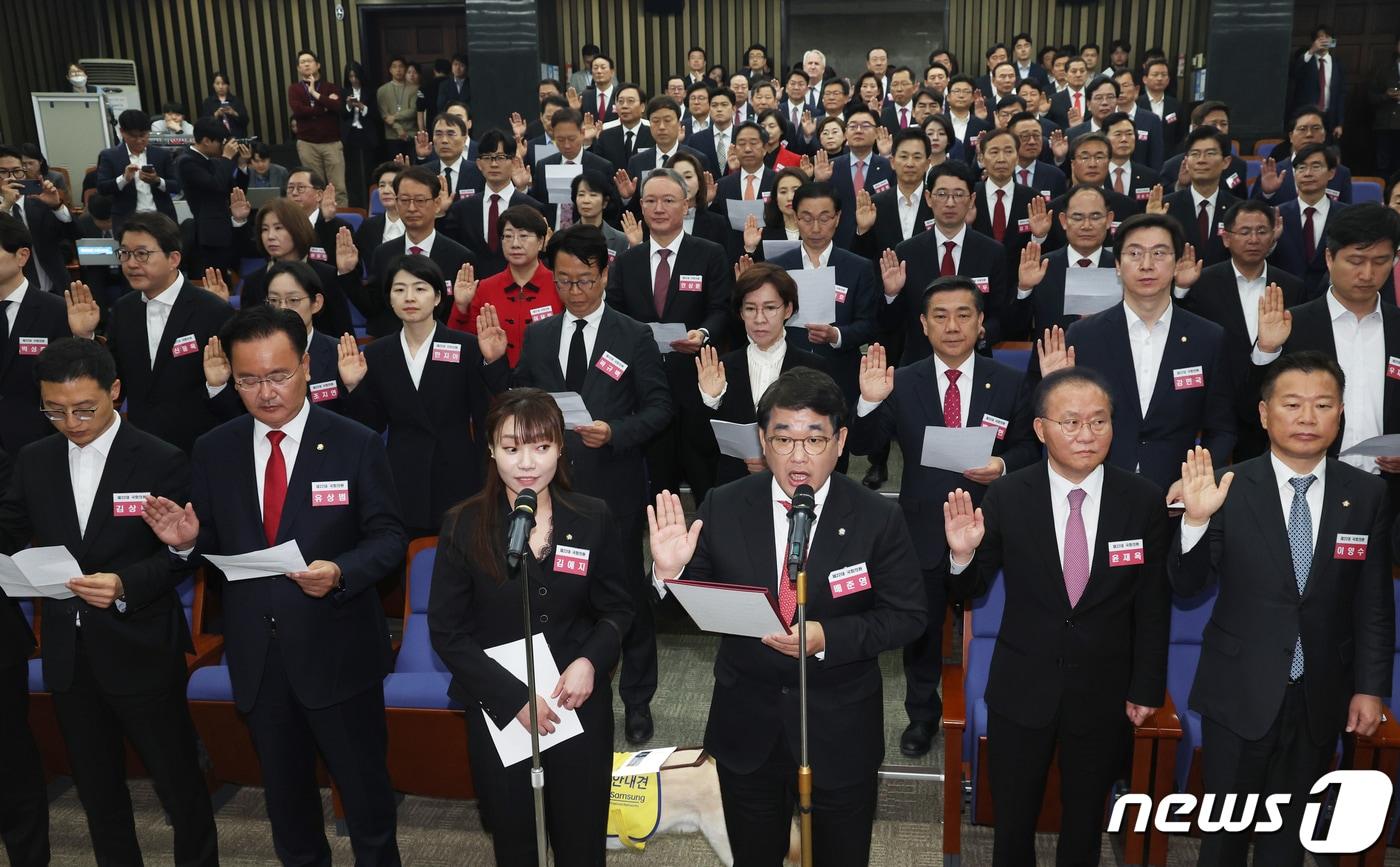
[{"label": "front-row man in dark suit and bright red tie, left of woman speaker", "polygon": [[220,342],[249,415],[200,440],[190,501],[147,497],[146,521],[181,557],[295,541],[304,571],[223,587],[224,656],[262,765],[273,846],[284,863],[330,863],[319,752],[356,863],[399,864],[385,766],[392,657],[374,587],[406,539],[384,443],[307,401],[307,329],[294,312],[239,311]]}]

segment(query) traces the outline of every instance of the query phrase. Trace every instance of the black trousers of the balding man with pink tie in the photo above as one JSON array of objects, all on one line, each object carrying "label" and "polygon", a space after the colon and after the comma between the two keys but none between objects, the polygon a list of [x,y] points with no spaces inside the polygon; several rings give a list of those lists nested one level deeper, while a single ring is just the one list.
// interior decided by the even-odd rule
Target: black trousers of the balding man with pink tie
[{"label": "black trousers of the balding man with pink tie", "polygon": [[1095,867],[1103,810],[1127,759],[1131,734],[1126,713],[1070,731],[1061,716],[1044,728],[1028,728],[988,709],[987,761],[997,811],[993,867],[1036,867],[1036,818],[1057,749],[1063,814],[1056,864]]}]

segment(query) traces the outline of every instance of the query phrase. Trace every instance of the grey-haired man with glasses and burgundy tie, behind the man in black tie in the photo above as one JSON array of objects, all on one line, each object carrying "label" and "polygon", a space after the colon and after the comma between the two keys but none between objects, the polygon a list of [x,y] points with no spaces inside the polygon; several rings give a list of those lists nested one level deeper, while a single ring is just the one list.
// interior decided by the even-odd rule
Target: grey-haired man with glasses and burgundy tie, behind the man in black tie
[{"label": "grey-haired man with glasses and burgundy tie, behind the man in black tie", "polygon": [[732,315],[734,272],[724,248],[687,235],[686,182],[673,169],[647,174],[638,190],[648,240],[617,256],[608,269],[608,307],[638,322],[680,322],[686,336],[662,356],[676,416],[647,447],[652,493],[679,490],[680,476],[704,479],[707,461],[686,431],[704,426],[699,408],[694,354],[706,343],[724,345]]}]

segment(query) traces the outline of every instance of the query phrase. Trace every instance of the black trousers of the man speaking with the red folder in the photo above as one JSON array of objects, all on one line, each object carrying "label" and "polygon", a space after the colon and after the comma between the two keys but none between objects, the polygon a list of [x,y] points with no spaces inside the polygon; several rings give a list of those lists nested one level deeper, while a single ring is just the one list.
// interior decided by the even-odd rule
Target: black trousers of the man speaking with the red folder
[{"label": "black trousers of the man speaking with the red folder", "polygon": [[[813,720],[813,724],[820,724]],[[797,762],[785,738],[753,773],[735,773],[717,762],[724,824],[734,867],[780,867],[787,857],[797,805]],[[864,867],[871,857],[871,829],[879,777],[854,786],[822,786],[812,770],[812,863],[816,867]]]}]

